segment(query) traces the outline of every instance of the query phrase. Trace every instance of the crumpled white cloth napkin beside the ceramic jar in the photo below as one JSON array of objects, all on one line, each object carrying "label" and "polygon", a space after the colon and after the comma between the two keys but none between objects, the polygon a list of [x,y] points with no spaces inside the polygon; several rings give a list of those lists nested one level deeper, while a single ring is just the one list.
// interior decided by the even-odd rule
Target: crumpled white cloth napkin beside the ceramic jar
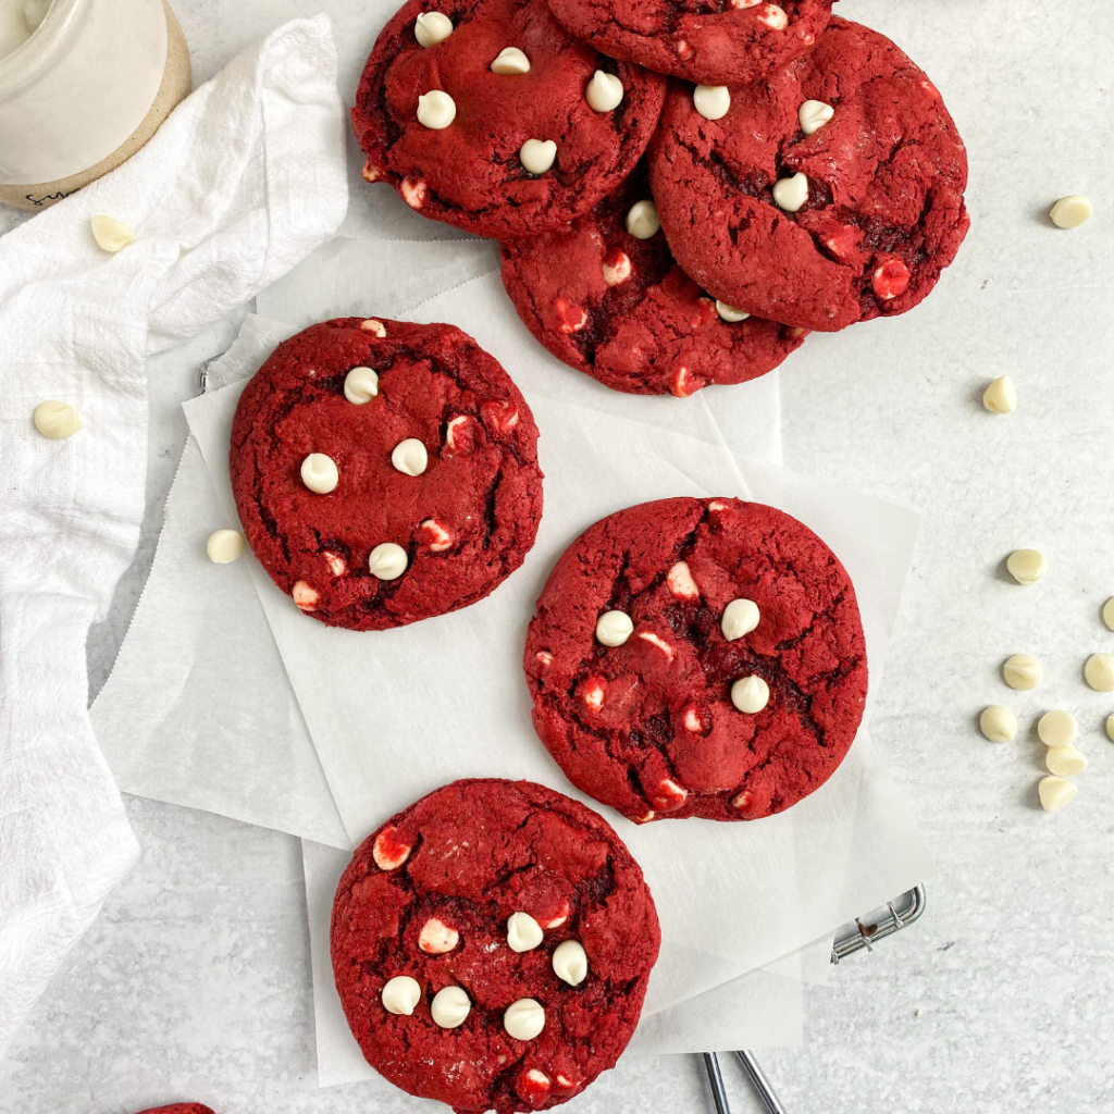
[{"label": "crumpled white cloth napkin beside the ceramic jar", "polygon": [[[336,72],[328,17],[293,20],[123,167],[0,241],[0,1054],[138,854],[89,724],[85,643],[138,540],[145,360],[338,228]],[[135,243],[102,252],[97,214]],[[85,428],[41,437],[46,399]]]}]

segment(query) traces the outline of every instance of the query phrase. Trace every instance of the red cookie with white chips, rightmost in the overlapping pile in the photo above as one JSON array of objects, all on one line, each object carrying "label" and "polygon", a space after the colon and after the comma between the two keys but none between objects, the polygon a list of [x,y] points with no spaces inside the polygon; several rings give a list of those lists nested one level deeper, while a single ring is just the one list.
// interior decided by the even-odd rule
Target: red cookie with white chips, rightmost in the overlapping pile
[{"label": "red cookie with white chips, rightmost in the overlapping pile", "polygon": [[[807,136],[807,100],[834,108]],[[802,173],[808,199],[773,199]],[[717,120],[674,82],[649,155],[677,262],[740,310],[836,331],[905,313],[936,285],[969,219],[967,154],[931,81],[889,39],[832,19],[813,50]]]}]

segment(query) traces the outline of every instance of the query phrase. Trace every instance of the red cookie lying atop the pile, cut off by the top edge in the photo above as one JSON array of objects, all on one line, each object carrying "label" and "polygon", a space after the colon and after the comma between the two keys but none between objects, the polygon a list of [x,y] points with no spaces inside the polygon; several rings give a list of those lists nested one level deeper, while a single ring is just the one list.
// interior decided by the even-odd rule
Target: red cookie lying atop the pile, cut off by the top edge
[{"label": "red cookie lying atop the pile, cut off by the top edge", "polygon": [[613,58],[698,85],[750,85],[812,46],[832,0],[549,0],[549,7]]}]

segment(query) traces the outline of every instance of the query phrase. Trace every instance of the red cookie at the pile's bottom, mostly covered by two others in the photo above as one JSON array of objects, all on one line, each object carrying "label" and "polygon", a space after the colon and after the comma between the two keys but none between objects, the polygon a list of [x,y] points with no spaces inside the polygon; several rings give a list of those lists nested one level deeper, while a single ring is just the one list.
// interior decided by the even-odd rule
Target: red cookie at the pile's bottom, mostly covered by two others
[{"label": "red cookie at the pile's bottom, mostly covered by two others", "polygon": [[616,391],[685,398],[764,375],[800,346],[804,330],[723,320],[661,231],[627,232],[639,202],[653,203],[643,163],[568,232],[502,244],[502,284],[558,360]]}]

